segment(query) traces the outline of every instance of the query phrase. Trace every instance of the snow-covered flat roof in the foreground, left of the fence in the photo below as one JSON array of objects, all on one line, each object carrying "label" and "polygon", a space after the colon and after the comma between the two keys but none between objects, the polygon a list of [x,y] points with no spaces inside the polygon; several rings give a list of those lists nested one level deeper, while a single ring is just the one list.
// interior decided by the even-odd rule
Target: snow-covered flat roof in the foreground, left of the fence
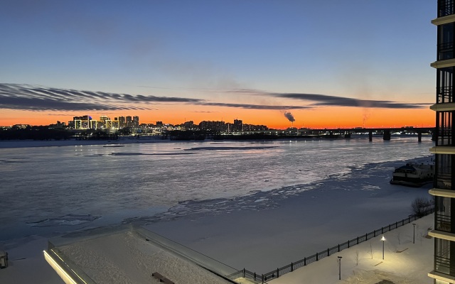
[{"label": "snow-covered flat roof in the foreground, left of the fence", "polygon": [[229,283],[194,263],[146,241],[132,231],[59,247],[97,284],[158,283],[158,272],[175,283]]}]

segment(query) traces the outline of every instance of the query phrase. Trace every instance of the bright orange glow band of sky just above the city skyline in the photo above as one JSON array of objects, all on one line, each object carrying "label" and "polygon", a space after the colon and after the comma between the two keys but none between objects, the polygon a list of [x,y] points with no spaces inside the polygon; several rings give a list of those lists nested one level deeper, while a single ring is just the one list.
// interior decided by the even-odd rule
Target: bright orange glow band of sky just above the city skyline
[{"label": "bright orange glow band of sky just above the city skyline", "polygon": [[257,109],[188,109],[188,107],[173,107],[173,109],[160,109],[153,111],[122,111],[122,113],[81,111],[70,112],[44,112],[44,111],[17,111],[2,110],[0,126],[14,124],[49,125],[57,121],[68,123],[73,116],[90,114],[93,119],[107,115],[112,120],[118,116],[139,116],[139,123],[156,124],[183,124],[185,121],[225,121],[232,123],[240,119],[244,124],[266,125],[271,129],[296,128],[378,128],[378,127],[434,127],[435,113],[430,109],[363,109],[355,107],[321,107],[317,109],[291,110],[294,123],[284,116],[284,111],[257,110]]}]

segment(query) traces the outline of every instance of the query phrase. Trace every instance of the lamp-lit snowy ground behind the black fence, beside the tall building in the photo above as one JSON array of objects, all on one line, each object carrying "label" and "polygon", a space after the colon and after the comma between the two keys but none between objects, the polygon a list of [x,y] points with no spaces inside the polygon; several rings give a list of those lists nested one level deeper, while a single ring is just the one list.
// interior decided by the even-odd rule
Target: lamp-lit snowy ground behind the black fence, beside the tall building
[{"label": "lamp-lit snowy ground behind the black fence, beside the tall building", "polygon": [[[384,259],[381,236],[321,259],[309,266],[269,281],[270,284],[362,283],[389,280],[395,284],[433,283],[427,273],[433,270],[434,239],[427,238],[433,228],[434,214],[384,234]],[[341,256],[341,280],[338,256]]]}]

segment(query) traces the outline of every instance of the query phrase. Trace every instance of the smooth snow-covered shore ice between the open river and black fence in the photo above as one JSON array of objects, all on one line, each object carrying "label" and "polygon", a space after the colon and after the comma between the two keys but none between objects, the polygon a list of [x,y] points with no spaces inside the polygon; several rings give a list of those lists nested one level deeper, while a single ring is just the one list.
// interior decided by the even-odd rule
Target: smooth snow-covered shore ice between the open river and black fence
[{"label": "smooth snow-covered shore ice between the open river and black fence", "polygon": [[178,211],[187,214],[170,210],[139,221],[228,266],[267,273],[412,214],[412,200],[428,198],[430,186],[390,185],[394,165],[365,165],[306,187],[239,200],[182,204]]}]

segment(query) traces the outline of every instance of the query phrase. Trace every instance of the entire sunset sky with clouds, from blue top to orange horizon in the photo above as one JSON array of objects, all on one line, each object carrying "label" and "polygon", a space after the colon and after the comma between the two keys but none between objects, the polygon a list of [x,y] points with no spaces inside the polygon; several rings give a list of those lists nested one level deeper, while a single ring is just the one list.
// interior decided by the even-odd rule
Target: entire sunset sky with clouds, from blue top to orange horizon
[{"label": "entire sunset sky with clouds, from blue top to orange horizon", "polygon": [[0,126],[434,126],[435,0],[1,0]]}]

